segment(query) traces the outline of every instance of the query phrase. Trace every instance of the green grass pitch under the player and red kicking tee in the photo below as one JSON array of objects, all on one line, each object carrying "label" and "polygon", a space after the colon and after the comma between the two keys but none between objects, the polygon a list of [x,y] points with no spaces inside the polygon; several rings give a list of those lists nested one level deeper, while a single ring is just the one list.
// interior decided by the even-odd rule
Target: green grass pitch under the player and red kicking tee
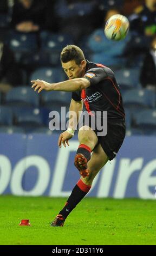
[{"label": "green grass pitch under the player and red kicking tee", "polygon": [[[155,200],[85,198],[64,227],[50,227],[66,199],[0,196],[0,245],[155,245]],[[31,227],[19,226],[29,218]]]}]

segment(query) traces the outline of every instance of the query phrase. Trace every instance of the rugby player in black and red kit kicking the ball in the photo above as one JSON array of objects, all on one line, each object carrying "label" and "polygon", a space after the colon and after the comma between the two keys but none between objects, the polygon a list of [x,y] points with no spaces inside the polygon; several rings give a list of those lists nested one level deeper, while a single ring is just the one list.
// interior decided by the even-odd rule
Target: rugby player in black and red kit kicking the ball
[{"label": "rugby player in black and red kit kicking the ball", "polygon": [[[125,111],[113,71],[101,64],[88,62],[82,50],[75,45],[63,48],[61,64],[68,81],[52,84],[42,80],[31,81],[32,88],[38,90],[38,93],[43,89],[73,92],[69,112],[76,113],[76,120],[69,121],[68,129],[61,133],[58,143],[60,148],[62,144],[64,147],[69,146],[69,139],[74,136],[75,123],[79,122],[83,103],[89,116],[88,121],[84,120],[79,129],[80,144],[74,160],[81,178],[51,226],[63,226],[70,212],[89,192],[99,170],[117,155],[125,138]],[[107,113],[107,119],[103,118],[103,112]],[[96,117],[94,127],[93,116]],[[101,136],[99,122],[107,126],[105,136]]]}]

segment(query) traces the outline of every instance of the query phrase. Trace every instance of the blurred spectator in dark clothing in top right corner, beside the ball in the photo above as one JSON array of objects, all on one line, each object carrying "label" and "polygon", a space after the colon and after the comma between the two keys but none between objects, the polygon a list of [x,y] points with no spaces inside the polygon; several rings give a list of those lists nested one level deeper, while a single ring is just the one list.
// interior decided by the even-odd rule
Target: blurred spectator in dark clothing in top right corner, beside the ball
[{"label": "blurred spectator in dark clothing in top right corner, beside the ball", "polygon": [[150,47],[151,40],[156,35],[156,0],[145,0],[129,16],[131,41],[127,44],[125,56],[128,65],[140,62],[139,59]]}]

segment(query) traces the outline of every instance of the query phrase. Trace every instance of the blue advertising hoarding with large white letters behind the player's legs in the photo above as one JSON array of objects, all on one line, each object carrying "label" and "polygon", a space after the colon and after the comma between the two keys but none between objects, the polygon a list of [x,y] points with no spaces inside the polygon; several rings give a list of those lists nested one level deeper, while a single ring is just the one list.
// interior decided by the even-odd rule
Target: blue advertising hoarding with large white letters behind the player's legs
[{"label": "blue advertising hoarding with large white letters behind the player's legs", "polygon": [[[79,172],[74,156],[77,138],[70,146],[57,146],[59,136],[0,135],[0,194],[68,197]],[[156,137],[126,137],[118,155],[96,176],[88,196],[155,199]]]}]

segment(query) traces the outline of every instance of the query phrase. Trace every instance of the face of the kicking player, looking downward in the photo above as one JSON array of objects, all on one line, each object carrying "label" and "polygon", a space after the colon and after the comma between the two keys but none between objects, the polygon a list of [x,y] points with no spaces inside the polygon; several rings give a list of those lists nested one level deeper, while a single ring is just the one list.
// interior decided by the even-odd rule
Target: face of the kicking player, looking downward
[{"label": "face of the kicking player, looking downward", "polygon": [[80,65],[75,63],[75,60],[70,60],[70,62],[63,63],[62,68],[69,79],[80,78],[85,75],[86,61],[82,60]]}]

